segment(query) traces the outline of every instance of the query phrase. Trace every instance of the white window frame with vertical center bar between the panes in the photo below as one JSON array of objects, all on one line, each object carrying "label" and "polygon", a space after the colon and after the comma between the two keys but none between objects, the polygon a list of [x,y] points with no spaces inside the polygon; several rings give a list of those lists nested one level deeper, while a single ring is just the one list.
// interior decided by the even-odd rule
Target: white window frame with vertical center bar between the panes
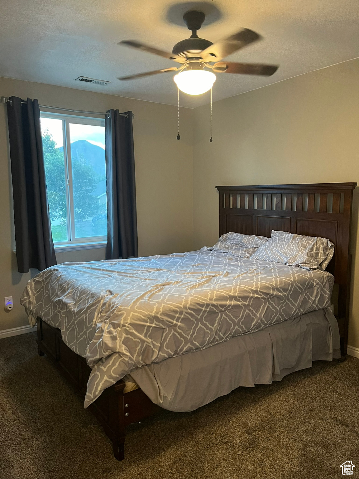
[{"label": "white window frame with vertical center bar between the panes", "polygon": [[107,244],[106,236],[90,236],[86,238],[76,238],[75,236],[75,215],[74,215],[74,195],[72,182],[72,158],[70,141],[70,123],[79,125],[105,126],[104,118],[95,116],[78,116],[62,113],[40,112],[42,118],[54,118],[62,120],[63,151],[65,163],[65,185],[66,185],[66,207],[67,207],[67,241],[54,241],[56,251],[84,250],[92,248],[104,248]]}]

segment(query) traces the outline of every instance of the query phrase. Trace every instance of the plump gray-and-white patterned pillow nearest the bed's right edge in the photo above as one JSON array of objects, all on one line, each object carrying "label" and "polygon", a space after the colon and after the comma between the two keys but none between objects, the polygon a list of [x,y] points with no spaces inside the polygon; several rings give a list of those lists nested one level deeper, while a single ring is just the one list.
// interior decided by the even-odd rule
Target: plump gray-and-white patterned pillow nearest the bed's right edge
[{"label": "plump gray-and-white patterned pillow nearest the bed's right edge", "polygon": [[271,238],[252,254],[251,259],[324,271],[333,254],[334,244],[329,239],[272,231]]}]

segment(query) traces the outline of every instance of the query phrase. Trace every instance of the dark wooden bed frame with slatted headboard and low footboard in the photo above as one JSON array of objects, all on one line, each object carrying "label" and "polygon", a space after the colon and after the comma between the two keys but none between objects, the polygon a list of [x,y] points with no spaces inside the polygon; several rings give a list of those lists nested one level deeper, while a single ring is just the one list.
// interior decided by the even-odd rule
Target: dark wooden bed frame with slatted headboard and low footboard
[{"label": "dark wooden bed frame with slatted headboard and low footboard", "polygon": [[[350,223],[353,190],[357,183],[262,186],[217,186],[219,234],[229,231],[270,237],[271,230],[320,236],[335,244],[327,270],[337,283],[337,320],[341,354],[347,354],[350,294]],[[37,321],[39,354],[47,354],[69,382],[85,396],[91,369],[86,360],[62,341],[61,331],[41,318]],[[113,444],[116,459],[124,458],[125,427],[160,408],[141,389],[124,393],[117,381],[105,389],[89,409],[101,422]]]}]

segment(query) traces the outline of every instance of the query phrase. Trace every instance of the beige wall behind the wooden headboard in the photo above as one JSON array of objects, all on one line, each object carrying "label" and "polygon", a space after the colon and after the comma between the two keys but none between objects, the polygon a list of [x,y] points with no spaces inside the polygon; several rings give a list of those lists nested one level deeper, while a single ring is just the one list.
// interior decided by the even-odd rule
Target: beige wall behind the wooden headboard
[{"label": "beige wall behind the wooden headboard", "polygon": [[[359,182],[359,60],[213,103],[213,143],[209,106],[194,113],[194,247],[218,238],[215,185]],[[355,191],[352,252],[357,258],[358,197]],[[355,256],[353,262],[349,344],[359,348]]]}]

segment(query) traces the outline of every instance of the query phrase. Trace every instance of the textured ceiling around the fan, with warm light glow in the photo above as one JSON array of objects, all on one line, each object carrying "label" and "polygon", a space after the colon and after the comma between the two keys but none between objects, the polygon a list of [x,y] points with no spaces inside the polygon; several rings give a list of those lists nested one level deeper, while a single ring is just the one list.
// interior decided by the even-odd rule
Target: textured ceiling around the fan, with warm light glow
[{"label": "textured ceiling around the fan, with warm light glow", "polygon": [[[358,0],[207,1],[207,10],[209,3],[222,18],[212,13],[202,38],[214,42],[250,28],[264,40],[228,59],[280,65],[269,78],[218,74],[213,101],[359,56]],[[191,34],[180,16],[167,0],[1,0],[0,76],[176,104],[173,73],[131,82],[117,77],[177,64],[117,43],[137,39],[171,51]],[[82,84],[75,81],[80,75],[111,83]],[[208,102],[209,93],[181,95],[183,106]]]}]

